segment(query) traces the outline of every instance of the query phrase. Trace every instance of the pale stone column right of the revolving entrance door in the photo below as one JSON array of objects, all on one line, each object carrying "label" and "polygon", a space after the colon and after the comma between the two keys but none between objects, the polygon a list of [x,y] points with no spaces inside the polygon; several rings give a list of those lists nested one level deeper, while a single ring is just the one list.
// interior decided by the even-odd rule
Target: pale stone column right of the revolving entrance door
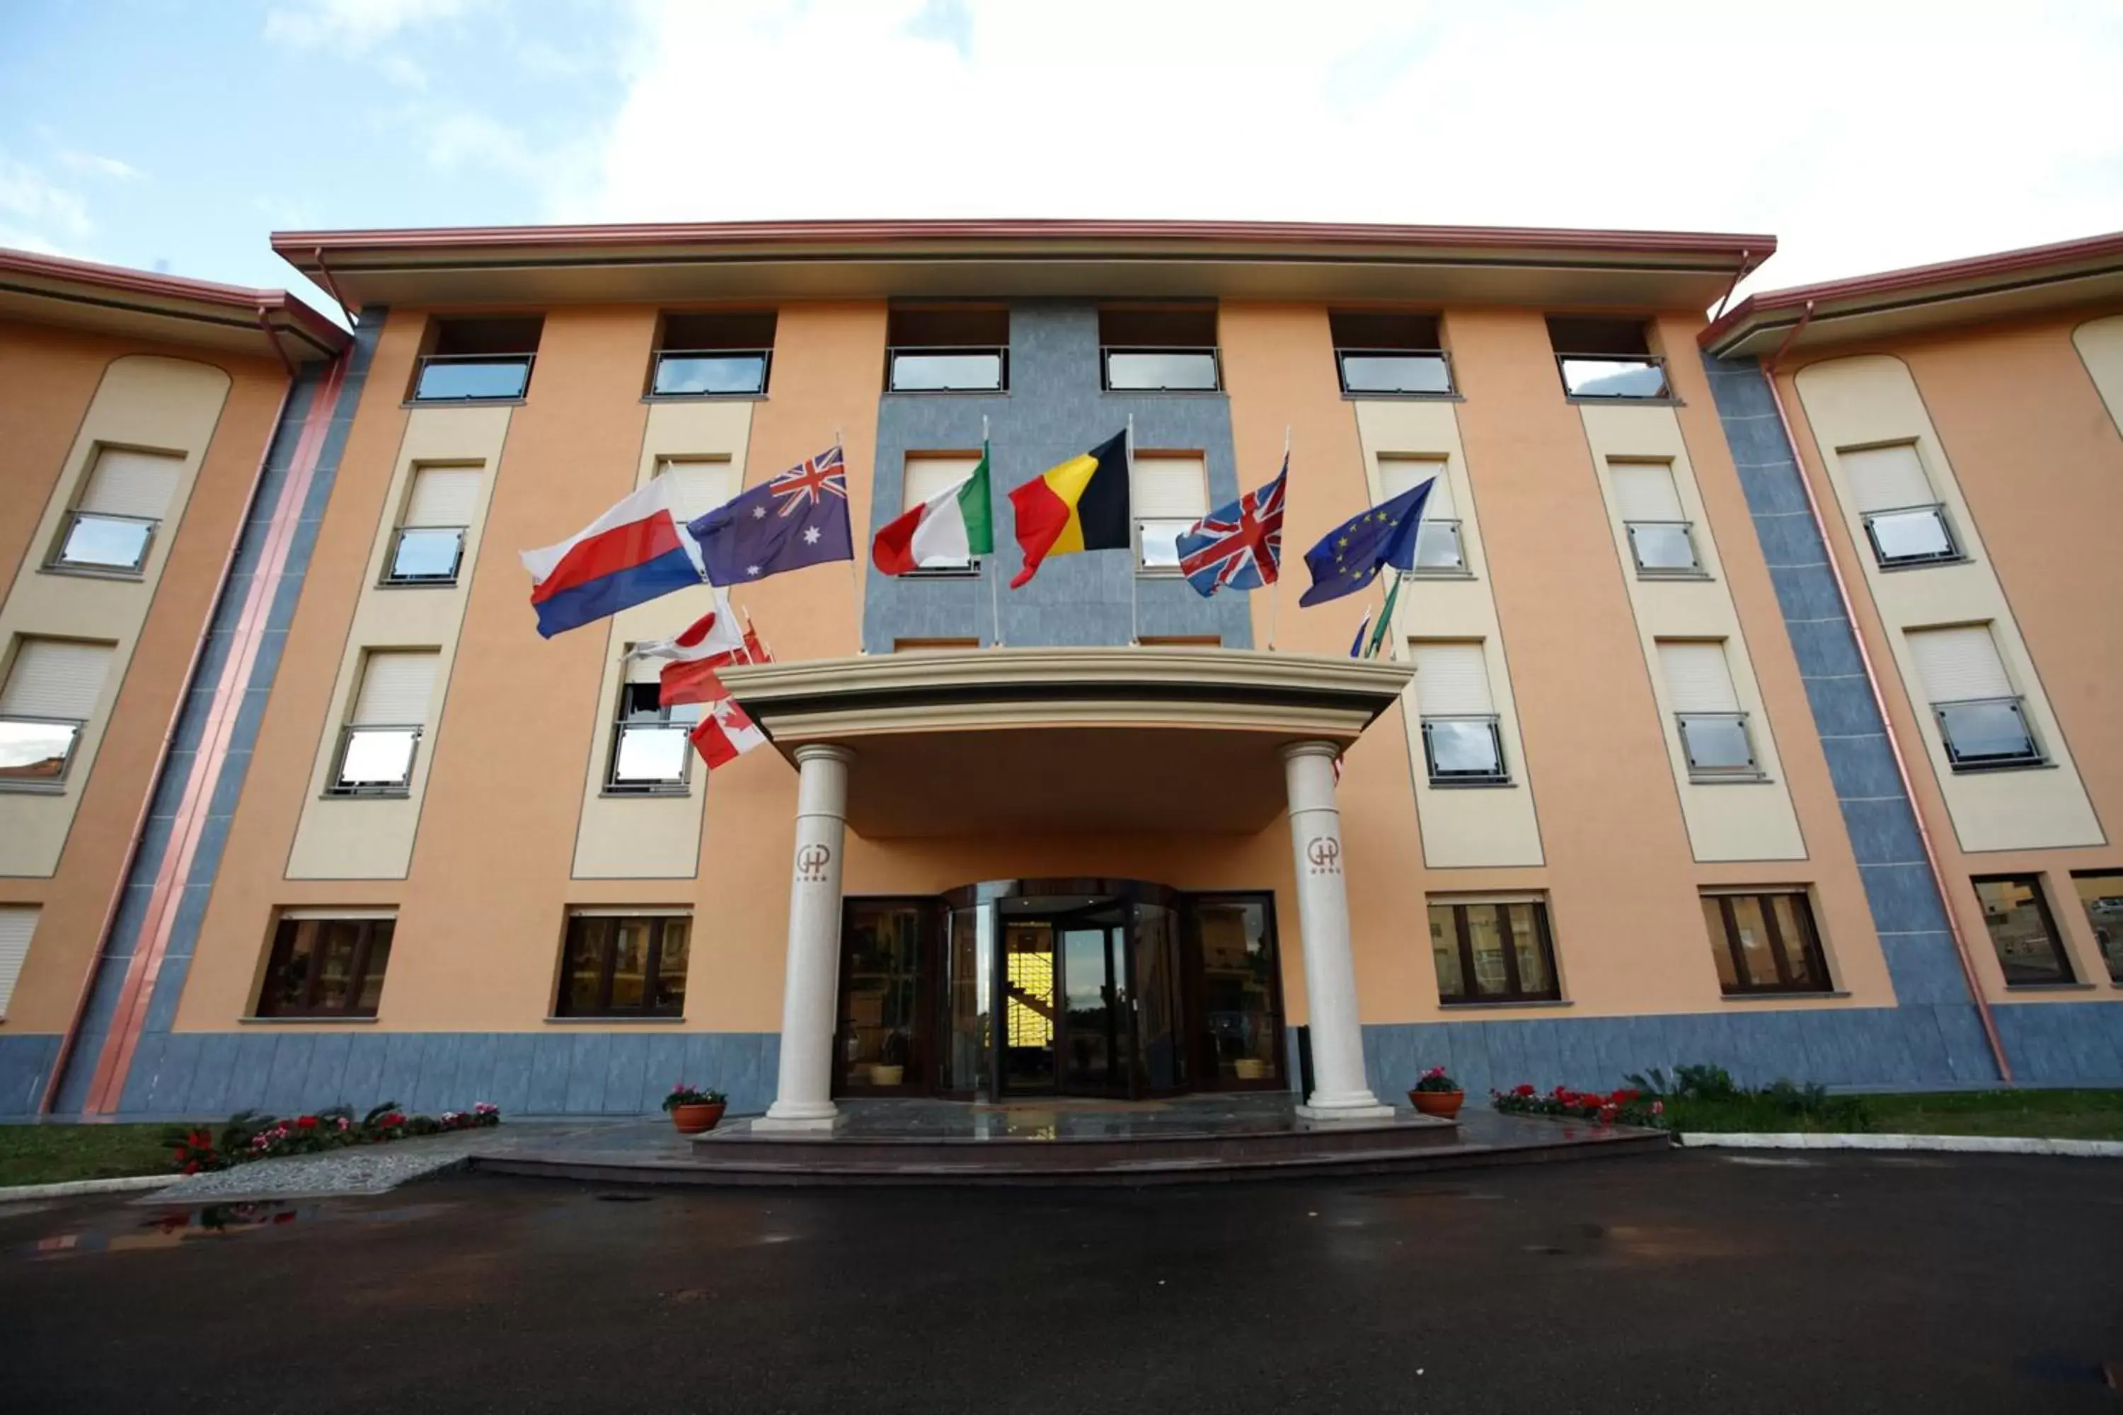
[{"label": "pale stone column right of the revolving entrance door", "polygon": [[1333,804],[1335,751],[1333,743],[1291,743],[1282,749],[1291,853],[1297,859],[1297,927],[1306,948],[1306,1012],[1312,1018],[1312,1095],[1297,1114],[1308,1120],[1386,1120],[1393,1107],[1378,1103],[1363,1076],[1357,965],[1348,953],[1348,889],[1342,878],[1342,813]]}]

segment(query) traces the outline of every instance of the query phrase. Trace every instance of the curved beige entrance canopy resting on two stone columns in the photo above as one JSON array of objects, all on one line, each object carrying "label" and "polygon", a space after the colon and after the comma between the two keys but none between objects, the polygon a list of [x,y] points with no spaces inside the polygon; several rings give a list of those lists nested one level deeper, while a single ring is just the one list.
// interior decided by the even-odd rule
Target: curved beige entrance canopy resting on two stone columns
[{"label": "curved beige entrance canopy resting on two stone columns", "polygon": [[853,749],[862,836],[1257,832],[1282,747],[1350,745],[1412,670],[1246,649],[955,649],[728,668],[775,747]]}]

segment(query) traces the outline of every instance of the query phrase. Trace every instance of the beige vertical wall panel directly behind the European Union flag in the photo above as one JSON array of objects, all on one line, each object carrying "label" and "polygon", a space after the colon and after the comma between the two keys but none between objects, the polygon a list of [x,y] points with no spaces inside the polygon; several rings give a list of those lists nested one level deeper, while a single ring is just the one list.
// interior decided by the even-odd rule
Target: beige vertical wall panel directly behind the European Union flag
[{"label": "beige vertical wall panel directly behind the European Union flag", "polygon": [[1352,407],[1357,409],[1357,431],[1363,439],[1365,473],[1374,501],[1382,494],[1380,456],[1446,458],[1444,475],[1452,484],[1452,507],[1461,522],[1461,554],[1467,560],[1469,577],[1410,577],[1395,602],[1391,643],[1395,658],[1405,658],[1412,636],[1482,641],[1488,689],[1497,706],[1497,732],[1503,738],[1503,759],[1512,772],[1507,787],[1431,787],[1418,721],[1422,685],[1412,683],[1403,700],[1403,719],[1410,779],[1416,791],[1416,825],[1422,832],[1422,859],[1433,870],[1537,866],[1541,863],[1541,832],[1533,810],[1533,781],[1518,734],[1509,660],[1503,630],[1497,626],[1497,600],[1484,569],[1478,494],[1467,471],[1467,452],[1461,448],[1454,405],[1359,399]]}]

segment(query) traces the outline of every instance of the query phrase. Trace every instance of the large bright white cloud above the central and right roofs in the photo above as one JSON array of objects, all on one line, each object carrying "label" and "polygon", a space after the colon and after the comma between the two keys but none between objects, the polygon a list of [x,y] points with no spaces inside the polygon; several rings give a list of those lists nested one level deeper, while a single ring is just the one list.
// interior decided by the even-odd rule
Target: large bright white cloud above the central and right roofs
[{"label": "large bright white cloud above the central and right roofs", "polygon": [[637,11],[552,216],[1771,231],[1792,284],[2123,225],[2123,23],[2055,4],[809,0]]}]

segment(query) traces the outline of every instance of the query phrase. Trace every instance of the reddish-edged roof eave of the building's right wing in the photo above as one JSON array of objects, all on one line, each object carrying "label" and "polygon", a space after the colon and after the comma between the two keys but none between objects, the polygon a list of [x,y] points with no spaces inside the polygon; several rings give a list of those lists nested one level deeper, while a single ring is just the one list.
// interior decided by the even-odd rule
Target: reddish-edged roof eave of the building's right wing
[{"label": "reddish-edged roof eave of the building's right wing", "polygon": [[1713,320],[1698,342],[1718,359],[1764,359],[1783,348],[1794,329],[1798,335],[1790,339],[1790,348],[1805,350],[2119,301],[2123,231],[1764,291]]}]

